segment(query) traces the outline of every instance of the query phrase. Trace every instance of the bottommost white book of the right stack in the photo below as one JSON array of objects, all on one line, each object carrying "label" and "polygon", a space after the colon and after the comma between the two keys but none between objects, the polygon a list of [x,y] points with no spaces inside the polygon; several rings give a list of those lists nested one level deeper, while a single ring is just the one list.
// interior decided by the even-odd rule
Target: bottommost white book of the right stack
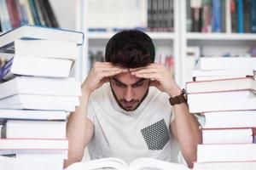
[{"label": "bottommost white book of the right stack", "polygon": [[254,170],[256,161],[194,163],[193,170]]}]

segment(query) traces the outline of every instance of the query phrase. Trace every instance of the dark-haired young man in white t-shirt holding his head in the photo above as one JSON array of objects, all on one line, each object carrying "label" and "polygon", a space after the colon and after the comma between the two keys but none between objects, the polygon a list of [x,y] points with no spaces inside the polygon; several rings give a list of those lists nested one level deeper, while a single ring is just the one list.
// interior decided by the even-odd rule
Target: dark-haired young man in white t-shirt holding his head
[{"label": "dark-haired young man in white t-shirt holding his head", "polygon": [[105,59],[85,79],[80,106],[69,117],[65,166],[81,161],[87,145],[92,159],[173,161],[177,141],[192,167],[201,143],[199,123],[171,73],[154,64],[151,38],[142,31],[121,31],[109,40]]}]

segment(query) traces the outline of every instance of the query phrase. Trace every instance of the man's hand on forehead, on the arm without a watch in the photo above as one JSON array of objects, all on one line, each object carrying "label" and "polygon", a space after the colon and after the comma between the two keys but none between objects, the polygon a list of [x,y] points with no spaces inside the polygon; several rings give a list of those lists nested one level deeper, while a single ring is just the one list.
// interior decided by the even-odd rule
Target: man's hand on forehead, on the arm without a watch
[{"label": "man's hand on forehead, on the arm without a watch", "polygon": [[108,77],[112,77],[127,71],[127,69],[113,65],[109,62],[96,62],[88,77],[86,77],[84,80],[82,89],[86,90],[88,93],[91,93],[96,88],[100,88],[105,82],[109,82]]}]

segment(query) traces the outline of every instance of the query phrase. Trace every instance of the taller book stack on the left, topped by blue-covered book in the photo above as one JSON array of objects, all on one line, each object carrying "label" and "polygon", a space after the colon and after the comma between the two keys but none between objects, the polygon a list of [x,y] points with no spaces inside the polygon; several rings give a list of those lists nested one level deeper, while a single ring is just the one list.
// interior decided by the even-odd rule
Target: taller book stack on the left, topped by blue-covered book
[{"label": "taller book stack on the left, topped by blue-covered book", "polygon": [[69,72],[83,41],[81,32],[39,26],[0,36],[0,52],[9,56],[0,73],[3,169],[62,169],[66,118],[81,94]]}]

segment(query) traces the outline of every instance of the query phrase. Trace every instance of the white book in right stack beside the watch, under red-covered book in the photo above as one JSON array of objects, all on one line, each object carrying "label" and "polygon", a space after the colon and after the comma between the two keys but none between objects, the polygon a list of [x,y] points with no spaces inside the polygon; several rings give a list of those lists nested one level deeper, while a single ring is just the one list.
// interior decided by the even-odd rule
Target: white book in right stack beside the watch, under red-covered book
[{"label": "white book in right stack beside the watch, under red-covered book", "polygon": [[254,94],[250,90],[236,90],[236,91],[228,91],[228,92],[212,92],[212,93],[201,93],[201,94],[188,94],[188,103],[195,102],[218,102],[225,101],[229,99],[250,99],[256,98],[256,94]]}]

